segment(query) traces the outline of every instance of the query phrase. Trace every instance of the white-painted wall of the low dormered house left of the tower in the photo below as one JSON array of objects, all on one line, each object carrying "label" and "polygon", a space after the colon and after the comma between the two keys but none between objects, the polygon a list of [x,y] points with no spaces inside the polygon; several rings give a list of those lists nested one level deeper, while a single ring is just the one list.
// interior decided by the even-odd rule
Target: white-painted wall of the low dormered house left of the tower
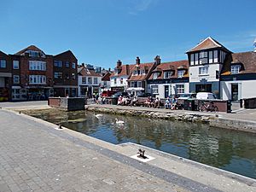
[{"label": "white-painted wall of the low dormered house left of the tower", "polygon": [[[176,93],[176,85],[184,84],[184,93],[189,93],[189,83],[176,83],[176,84],[148,84],[148,93],[151,93],[151,86],[158,85],[158,94],[154,94],[159,98],[165,98],[165,86],[169,86],[169,95],[175,95]],[[172,91],[171,91],[172,89]]]}]

